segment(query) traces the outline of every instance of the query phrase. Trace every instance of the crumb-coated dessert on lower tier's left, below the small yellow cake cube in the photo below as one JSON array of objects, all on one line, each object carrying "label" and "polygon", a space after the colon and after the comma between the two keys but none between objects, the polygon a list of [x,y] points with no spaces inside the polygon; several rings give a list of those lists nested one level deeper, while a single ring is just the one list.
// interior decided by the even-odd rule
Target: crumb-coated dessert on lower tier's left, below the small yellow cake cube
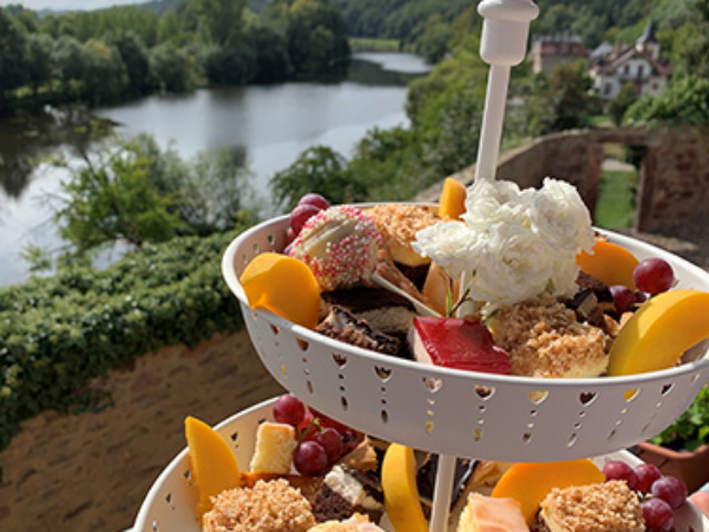
[{"label": "crumb-coated dessert on lower tier's left, below the small yellow cake cube", "polygon": [[317,523],[310,503],[282,479],[219,493],[203,532],[307,532]]}]

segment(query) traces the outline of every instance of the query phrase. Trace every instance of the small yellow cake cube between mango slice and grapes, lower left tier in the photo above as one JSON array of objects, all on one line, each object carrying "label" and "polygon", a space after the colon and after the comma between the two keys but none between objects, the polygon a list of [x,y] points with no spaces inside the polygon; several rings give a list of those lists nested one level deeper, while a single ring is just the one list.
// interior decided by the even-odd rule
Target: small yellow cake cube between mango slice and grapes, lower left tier
[{"label": "small yellow cake cube between mango slice and grapes, lower left tier", "polygon": [[256,451],[251,458],[253,473],[287,474],[296,449],[296,429],[289,424],[263,422],[256,432]]}]

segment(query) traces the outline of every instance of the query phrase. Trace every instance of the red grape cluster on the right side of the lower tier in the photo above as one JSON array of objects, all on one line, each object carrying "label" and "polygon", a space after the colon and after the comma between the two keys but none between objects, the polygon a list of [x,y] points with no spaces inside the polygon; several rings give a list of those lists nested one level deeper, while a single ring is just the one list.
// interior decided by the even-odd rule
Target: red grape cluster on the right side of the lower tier
[{"label": "red grape cluster on the right side of the lower tier", "polygon": [[603,468],[606,480],[624,480],[641,498],[640,508],[648,532],[670,532],[675,526],[675,510],[687,500],[685,483],[665,475],[651,463],[631,468],[615,460]]}]

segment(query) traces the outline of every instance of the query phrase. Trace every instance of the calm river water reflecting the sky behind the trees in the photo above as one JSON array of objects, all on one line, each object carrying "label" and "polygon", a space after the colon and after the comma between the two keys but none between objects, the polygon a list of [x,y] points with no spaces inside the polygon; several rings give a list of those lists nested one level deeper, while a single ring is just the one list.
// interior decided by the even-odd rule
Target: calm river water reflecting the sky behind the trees
[{"label": "calm river water reflecting the sky behind the trees", "polygon": [[[325,144],[349,156],[372,127],[408,125],[405,85],[427,71],[420,58],[399,53],[362,53],[348,79],[338,83],[284,83],[268,86],[199,90],[178,96],[148,96],[124,105],[94,110],[117,123],[116,132],[154,135],[188,158],[223,146],[246,153],[254,188],[268,201],[268,178],[307,147]],[[47,204],[68,174],[42,157],[91,150],[85,115],[47,115],[0,122],[0,284],[25,278],[20,257],[28,244],[61,246]],[[274,208],[268,207],[273,213]],[[110,260],[111,254],[103,257]]]}]

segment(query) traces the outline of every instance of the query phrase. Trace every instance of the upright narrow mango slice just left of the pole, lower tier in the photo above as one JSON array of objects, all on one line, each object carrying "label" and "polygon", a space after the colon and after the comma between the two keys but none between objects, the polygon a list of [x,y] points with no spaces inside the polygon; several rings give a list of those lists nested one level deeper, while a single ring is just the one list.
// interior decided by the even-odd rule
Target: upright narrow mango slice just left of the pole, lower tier
[{"label": "upright narrow mango slice just left of the pole, lower tier", "polygon": [[381,466],[384,509],[395,532],[428,532],[417,488],[413,449],[391,443]]}]

